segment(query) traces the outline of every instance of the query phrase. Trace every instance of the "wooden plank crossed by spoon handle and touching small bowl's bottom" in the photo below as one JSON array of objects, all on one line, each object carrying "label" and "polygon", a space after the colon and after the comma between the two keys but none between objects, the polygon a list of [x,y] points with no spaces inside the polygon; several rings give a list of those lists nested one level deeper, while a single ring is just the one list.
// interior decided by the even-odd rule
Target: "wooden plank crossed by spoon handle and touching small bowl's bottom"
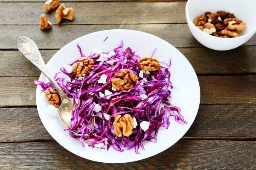
[{"label": "wooden plank crossed by spoon handle and touching small bowl's bottom", "polygon": [[[209,48],[178,48],[178,50],[191,62],[199,75],[256,73],[256,46],[241,46],[222,52]],[[44,61],[48,62],[57,51],[41,50]],[[0,51],[0,56],[0,77],[37,77],[41,74],[39,69],[19,51]]]}]

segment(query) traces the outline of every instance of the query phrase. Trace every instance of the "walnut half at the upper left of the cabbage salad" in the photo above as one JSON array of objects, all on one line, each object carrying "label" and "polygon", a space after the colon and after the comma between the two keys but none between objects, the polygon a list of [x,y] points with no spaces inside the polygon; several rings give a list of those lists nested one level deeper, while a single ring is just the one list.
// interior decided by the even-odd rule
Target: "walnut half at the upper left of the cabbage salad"
[{"label": "walnut half at the upper left of the cabbage salad", "polygon": [[93,59],[88,59],[88,57],[81,57],[76,64],[73,65],[73,73],[79,77],[83,77],[93,67]]}]

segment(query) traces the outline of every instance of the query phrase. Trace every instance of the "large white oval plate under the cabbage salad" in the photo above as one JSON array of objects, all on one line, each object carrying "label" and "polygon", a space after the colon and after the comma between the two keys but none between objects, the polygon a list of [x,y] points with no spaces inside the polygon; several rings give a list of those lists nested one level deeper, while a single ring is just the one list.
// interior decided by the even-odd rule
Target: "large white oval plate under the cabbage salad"
[{"label": "large white oval plate under the cabbage salad", "polygon": [[[108,39],[103,42],[106,37]],[[137,155],[134,149],[125,149],[121,153],[112,147],[108,151],[82,147],[78,140],[71,138],[67,131],[63,131],[65,127],[61,124],[58,116],[47,114],[46,110],[49,102],[44,93],[40,92],[41,86],[38,86],[36,89],[36,104],[44,127],[61,146],[85,159],[105,163],[125,163],[154,156],[175,144],[189,130],[198,112],[200,88],[194,69],[180,51],[168,42],[151,34],[121,29],[87,34],[61,48],[49,60],[47,67],[52,74],[55,74],[55,72],[60,71],[61,66],[79,58],[80,53],[76,43],[80,45],[84,55],[89,55],[95,48],[101,51],[109,51],[111,48],[116,47],[121,40],[124,42],[123,49],[129,46],[131,49],[138,51],[140,56],[151,56],[154,48],[157,48],[154,57],[159,59],[160,62],[167,63],[169,58],[172,57],[171,80],[175,86],[172,91],[173,101],[181,109],[181,113],[188,124],[180,125],[175,122],[174,118],[171,118],[169,129],[160,127],[156,143],[147,141],[143,144],[145,150],[141,150],[140,147],[139,152],[141,155]],[[39,81],[49,82],[43,74],[41,74]]]}]

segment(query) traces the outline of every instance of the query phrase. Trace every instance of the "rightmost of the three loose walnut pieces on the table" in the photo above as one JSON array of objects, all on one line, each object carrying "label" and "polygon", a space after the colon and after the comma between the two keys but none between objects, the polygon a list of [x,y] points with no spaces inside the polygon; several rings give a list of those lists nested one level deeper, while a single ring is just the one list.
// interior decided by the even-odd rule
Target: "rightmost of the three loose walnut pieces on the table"
[{"label": "rightmost of the three loose walnut pieces on the table", "polygon": [[64,4],[56,10],[55,18],[57,23],[61,23],[62,18],[73,20],[75,10],[73,8],[65,8]]}]

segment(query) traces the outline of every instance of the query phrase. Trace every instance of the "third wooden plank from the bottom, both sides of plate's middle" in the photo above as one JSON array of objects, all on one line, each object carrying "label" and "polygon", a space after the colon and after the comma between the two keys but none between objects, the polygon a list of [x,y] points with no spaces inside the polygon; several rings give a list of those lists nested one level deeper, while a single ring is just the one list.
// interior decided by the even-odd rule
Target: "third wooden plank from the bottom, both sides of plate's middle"
[{"label": "third wooden plank from the bottom, both sides of plate's middle", "polygon": [[[0,106],[35,105],[38,77],[0,77]],[[198,76],[201,104],[256,104],[256,75]]]}]

